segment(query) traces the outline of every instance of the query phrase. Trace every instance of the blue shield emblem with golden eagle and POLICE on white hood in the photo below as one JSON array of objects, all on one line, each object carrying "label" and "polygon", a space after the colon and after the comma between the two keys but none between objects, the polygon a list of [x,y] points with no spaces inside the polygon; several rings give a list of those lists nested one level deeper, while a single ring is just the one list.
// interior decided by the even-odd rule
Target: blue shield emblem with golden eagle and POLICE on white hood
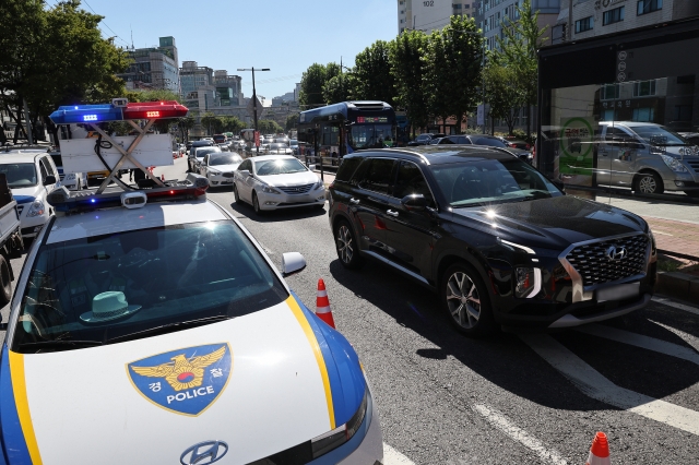
[{"label": "blue shield emblem with golden eagle and POLICE on white hood", "polygon": [[192,417],[221,396],[232,370],[227,343],[170,350],[127,363],[129,379],[141,395],[166,410]]}]

